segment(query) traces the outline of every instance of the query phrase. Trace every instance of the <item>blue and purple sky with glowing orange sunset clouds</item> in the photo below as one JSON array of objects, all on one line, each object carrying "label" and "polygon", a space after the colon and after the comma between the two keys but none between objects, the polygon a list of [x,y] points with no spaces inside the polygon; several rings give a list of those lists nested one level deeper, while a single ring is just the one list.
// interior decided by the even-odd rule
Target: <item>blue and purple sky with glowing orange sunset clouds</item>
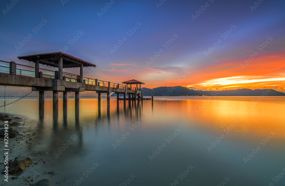
[{"label": "blue and purple sky with glowing orange sunset clouds", "polygon": [[0,2],[0,60],[28,64],[17,56],[62,51],[96,64],[94,79],[114,83],[285,91],[284,0],[9,4]]}]

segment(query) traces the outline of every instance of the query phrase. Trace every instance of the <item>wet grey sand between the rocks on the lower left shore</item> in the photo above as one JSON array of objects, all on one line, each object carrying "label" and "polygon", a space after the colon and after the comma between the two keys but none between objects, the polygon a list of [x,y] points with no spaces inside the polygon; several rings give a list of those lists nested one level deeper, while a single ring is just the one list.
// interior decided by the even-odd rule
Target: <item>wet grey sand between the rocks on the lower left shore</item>
[{"label": "wet grey sand between the rocks on the lower left shore", "polygon": [[[8,149],[9,150],[9,161],[12,162],[17,156],[27,156],[32,159],[32,164],[27,166],[23,172],[9,174],[9,182],[4,181],[4,174],[1,174],[0,185],[30,185],[34,184],[41,179],[49,179],[51,185],[57,183],[56,185],[62,185],[58,173],[52,169],[50,166],[50,161],[52,156],[50,156],[46,151],[43,143],[39,140],[35,133],[34,125],[28,120],[28,118],[20,115],[14,115],[9,113],[0,113],[1,115],[8,115],[8,118],[12,120],[9,121],[9,127],[13,127],[14,130],[19,132],[19,136],[14,138],[9,138]],[[16,118],[17,117],[17,118]],[[17,126],[10,126],[13,122],[19,122]],[[4,121],[0,121],[0,126],[5,124]],[[0,127],[0,129],[3,129]],[[2,147],[2,156],[0,156],[0,171],[4,170],[4,138],[0,138]]]}]

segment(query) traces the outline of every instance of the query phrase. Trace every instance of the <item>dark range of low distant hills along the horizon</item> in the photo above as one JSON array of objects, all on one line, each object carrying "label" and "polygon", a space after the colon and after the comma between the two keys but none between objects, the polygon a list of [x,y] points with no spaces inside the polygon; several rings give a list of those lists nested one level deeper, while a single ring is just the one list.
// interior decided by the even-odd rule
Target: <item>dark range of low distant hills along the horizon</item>
[{"label": "dark range of low distant hills along the horizon", "polygon": [[[266,94],[267,93],[267,94]],[[266,94],[266,95],[265,95]],[[273,89],[235,89],[222,91],[202,91],[192,90],[182,86],[176,87],[157,87],[153,89],[154,96],[285,96],[284,93]],[[113,93],[111,96],[116,96]],[[143,96],[151,96],[151,89],[143,88]]]}]

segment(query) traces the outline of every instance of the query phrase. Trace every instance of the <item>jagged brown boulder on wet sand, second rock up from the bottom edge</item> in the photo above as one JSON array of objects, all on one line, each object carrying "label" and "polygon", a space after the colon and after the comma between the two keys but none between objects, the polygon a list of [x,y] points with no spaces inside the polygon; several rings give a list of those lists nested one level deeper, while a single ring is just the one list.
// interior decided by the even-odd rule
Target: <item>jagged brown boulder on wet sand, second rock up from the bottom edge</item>
[{"label": "jagged brown boulder on wet sand, second rock up from the bottom edge", "polygon": [[[31,158],[25,156],[17,156],[15,160],[9,165],[9,173],[21,172],[32,163]],[[3,172],[2,172],[3,173]]]}]

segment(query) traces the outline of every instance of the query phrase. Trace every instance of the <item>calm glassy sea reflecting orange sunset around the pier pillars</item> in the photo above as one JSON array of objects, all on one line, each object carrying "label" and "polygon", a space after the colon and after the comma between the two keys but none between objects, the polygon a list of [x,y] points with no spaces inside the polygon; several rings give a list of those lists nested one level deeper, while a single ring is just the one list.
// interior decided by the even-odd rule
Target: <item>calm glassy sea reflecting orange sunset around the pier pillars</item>
[{"label": "calm glassy sea reflecting orange sunset around the pier pillars", "polygon": [[69,98],[65,110],[60,99],[57,112],[45,99],[39,112],[37,99],[21,99],[0,112],[30,118],[52,185],[285,185],[283,97],[106,104],[98,112],[97,98],[81,98],[75,109]]}]

